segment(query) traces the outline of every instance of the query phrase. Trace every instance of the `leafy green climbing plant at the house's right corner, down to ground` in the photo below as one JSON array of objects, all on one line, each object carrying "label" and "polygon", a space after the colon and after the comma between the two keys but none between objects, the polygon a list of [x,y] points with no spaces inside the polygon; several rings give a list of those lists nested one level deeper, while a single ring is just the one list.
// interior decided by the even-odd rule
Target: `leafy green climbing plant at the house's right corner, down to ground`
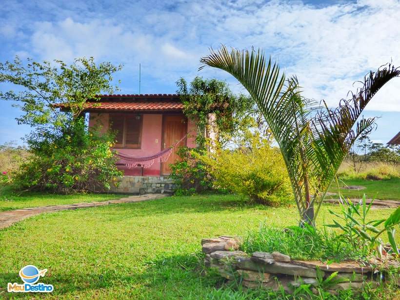
[{"label": "leafy green climbing plant at the house's right corner, down to ground", "polygon": [[183,113],[196,123],[199,135],[196,137],[198,148],[180,149],[181,160],[172,166],[171,176],[180,186],[178,194],[193,194],[215,188],[207,165],[199,159],[206,155],[208,135],[214,132],[218,144],[226,146],[242,128],[248,127],[254,101],[245,95],[234,95],[226,81],[217,79],[198,76],[188,84],[180,78],[177,86]]}]

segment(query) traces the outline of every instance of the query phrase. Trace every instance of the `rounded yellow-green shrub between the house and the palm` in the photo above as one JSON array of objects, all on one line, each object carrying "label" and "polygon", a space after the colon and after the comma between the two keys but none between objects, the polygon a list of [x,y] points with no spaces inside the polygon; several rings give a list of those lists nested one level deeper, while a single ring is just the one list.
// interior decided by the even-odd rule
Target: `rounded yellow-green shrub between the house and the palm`
[{"label": "rounded yellow-green shrub between the house and the palm", "polygon": [[215,179],[214,185],[250,200],[276,205],[290,197],[291,189],[285,164],[277,148],[260,134],[247,134],[237,149],[212,146],[209,155],[199,156]]}]

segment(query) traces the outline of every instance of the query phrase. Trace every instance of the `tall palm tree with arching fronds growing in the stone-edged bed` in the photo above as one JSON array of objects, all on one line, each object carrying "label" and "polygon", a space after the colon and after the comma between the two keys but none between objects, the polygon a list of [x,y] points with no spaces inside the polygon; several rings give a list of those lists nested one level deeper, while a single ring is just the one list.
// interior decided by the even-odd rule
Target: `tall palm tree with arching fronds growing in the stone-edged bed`
[{"label": "tall palm tree with arching fronds growing in the stone-edged bed", "polygon": [[221,46],[200,59],[203,65],[233,75],[256,101],[286,164],[300,214],[300,225],[315,226],[321,203],[350,147],[374,128],[375,118],[358,118],[389,80],[400,76],[391,64],[370,72],[350,100],[331,109],[304,99],[296,77],[285,79],[278,64],[259,49],[240,51]]}]

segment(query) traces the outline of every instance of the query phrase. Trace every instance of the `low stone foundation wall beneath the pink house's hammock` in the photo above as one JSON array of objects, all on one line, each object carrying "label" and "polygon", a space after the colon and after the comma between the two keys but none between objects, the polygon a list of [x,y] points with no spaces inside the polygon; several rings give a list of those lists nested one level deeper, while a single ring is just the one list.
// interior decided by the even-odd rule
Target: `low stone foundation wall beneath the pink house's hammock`
[{"label": "low stone foundation wall beneath the pink house's hammock", "polygon": [[[116,186],[115,183],[119,183]],[[111,184],[113,193],[172,194],[176,188],[172,179],[164,176],[123,176]]]}]

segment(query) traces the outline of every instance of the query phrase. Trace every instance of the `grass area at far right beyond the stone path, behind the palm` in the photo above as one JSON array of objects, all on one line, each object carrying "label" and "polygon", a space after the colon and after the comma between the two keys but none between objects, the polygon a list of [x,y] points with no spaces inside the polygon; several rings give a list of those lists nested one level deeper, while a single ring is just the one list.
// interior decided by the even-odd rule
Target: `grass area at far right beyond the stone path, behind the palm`
[{"label": "grass area at far right beyond the stone path, behind the palm", "polygon": [[[362,179],[342,179],[339,180],[340,187],[359,185],[366,187],[362,190],[340,189],[340,193],[345,198],[361,199],[365,194],[366,198],[375,198],[379,200],[399,200],[400,201],[400,178],[390,180],[362,180]],[[336,183],[333,182],[329,192],[338,193]],[[330,196],[332,199],[338,196]]]}]

